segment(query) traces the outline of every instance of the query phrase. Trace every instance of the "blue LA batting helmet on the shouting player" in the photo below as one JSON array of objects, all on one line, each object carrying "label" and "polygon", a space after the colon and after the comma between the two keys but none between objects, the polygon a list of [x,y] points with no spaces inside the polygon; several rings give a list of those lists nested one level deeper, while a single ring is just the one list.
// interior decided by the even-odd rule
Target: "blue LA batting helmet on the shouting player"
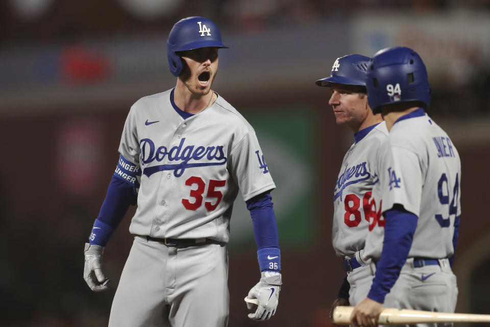
[{"label": "blue LA batting helmet on the shouting player", "polygon": [[182,72],[183,64],[179,51],[213,46],[228,48],[221,41],[221,33],[214,22],[204,17],[187,17],[176,22],[167,40],[168,67],[174,76]]}]

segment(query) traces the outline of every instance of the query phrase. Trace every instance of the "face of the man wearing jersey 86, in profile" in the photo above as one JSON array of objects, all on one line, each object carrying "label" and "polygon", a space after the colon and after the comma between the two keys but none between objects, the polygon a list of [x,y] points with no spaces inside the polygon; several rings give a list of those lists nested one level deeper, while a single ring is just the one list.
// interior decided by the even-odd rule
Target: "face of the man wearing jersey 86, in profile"
[{"label": "face of the man wearing jersey 86, in profile", "polygon": [[332,106],[337,125],[345,125],[357,132],[369,110],[367,96],[357,85],[332,84]]}]

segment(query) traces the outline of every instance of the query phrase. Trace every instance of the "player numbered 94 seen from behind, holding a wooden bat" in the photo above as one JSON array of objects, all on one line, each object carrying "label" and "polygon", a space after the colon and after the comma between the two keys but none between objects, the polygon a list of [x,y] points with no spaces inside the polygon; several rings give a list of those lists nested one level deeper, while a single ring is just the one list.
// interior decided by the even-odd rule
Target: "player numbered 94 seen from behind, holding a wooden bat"
[{"label": "player numbered 94 seen from behind, holding a wooden bat", "polygon": [[454,312],[458,290],[451,266],[461,163],[448,134],[425,113],[431,98],[426,67],[411,49],[384,49],[368,64],[366,87],[370,107],[381,112],[389,134],[378,151],[379,180],[363,253],[374,279],[351,321],[376,325],[383,303]]}]

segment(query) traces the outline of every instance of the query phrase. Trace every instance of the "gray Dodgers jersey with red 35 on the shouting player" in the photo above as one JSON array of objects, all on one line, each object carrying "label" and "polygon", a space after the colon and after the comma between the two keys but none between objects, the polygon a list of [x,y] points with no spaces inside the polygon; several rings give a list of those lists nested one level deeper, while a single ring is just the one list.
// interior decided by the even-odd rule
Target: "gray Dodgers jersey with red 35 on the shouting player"
[{"label": "gray Dodgers jersey with red 35 on the shouting player", "polygon": [[138,100],[122,132],[119,153],[140,172],[130,232],[228,242],[238,189],[248,200],[275,188],[255,131],[219,96],[184,120],[170,92]]}]

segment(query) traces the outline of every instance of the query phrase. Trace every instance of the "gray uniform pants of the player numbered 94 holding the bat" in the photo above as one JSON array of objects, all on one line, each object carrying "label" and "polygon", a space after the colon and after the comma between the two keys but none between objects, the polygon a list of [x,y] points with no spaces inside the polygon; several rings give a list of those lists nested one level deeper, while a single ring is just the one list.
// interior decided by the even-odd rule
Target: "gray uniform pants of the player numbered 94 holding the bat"
[{"label": "gray uniform pants of the player numbered 94 holding the bat", "polygon": [[[439,265],[415,268],[413,267],[413,258],[407,259],[400,272],[400,277],[386,295],[383,308],[454,312],[458,297],[456,276],[449,266],[448,259],[439,259],[438,261]],[[371,264],[370,267],[371,269],[368,270],[371,274],[371,282],[369,282],[367,292],[371,288],[376,272],[374,264]],[[364,267],[358,269],[362,268]],[[450,327],[452,325],[452,323],[418,323],[405,326]]]}]

